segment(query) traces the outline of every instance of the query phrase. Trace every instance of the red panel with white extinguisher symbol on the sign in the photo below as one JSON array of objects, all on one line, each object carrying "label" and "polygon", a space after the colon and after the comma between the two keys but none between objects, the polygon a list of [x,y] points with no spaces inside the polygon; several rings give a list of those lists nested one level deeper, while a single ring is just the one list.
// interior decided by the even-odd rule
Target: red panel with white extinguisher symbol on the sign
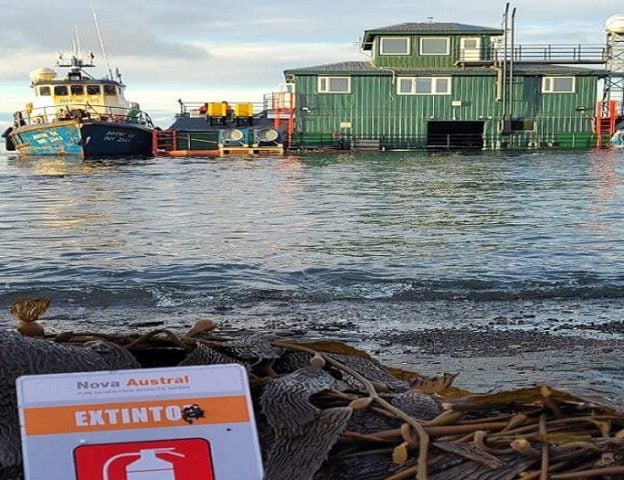
[{"label": "red panel with white extinguisher symbol on the sign", "polygon": [[74,463],[77,480],[214,480],[203,438],[81,445]]}]

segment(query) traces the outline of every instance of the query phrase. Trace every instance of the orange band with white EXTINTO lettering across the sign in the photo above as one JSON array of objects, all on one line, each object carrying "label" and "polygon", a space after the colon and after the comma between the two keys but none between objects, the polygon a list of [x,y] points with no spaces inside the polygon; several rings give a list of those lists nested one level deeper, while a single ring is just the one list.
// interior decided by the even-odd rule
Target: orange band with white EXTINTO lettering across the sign
[{"label": "orange band with white EXTINTO lettering across the sign", "polygon": [[[185,408],[188,406],[191,407]],[[244,396],[32,407],[24,410],[26,435],[244,423],[249,422],[249,418]]]}]

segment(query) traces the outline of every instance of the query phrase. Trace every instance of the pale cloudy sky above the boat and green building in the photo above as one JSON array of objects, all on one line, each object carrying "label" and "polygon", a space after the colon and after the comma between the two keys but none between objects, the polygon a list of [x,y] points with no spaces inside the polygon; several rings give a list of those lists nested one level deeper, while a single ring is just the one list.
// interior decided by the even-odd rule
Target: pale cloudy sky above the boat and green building
[{"label": "pale cloudy sky above the boat and green building", "polygon": [[[166,126],[185,101],[261,101],[287,68],[365,60],[366,29],[404,22],[459,22],[499,27],[502,0],[0,0],[0,127],[28,101],[28,72],[54,67],[72,51],[105,62],[92,3],[112,68],[127,96]],[[518,0],[522,43],[602,44],[605,20],[624,13],[620,0]]]}]

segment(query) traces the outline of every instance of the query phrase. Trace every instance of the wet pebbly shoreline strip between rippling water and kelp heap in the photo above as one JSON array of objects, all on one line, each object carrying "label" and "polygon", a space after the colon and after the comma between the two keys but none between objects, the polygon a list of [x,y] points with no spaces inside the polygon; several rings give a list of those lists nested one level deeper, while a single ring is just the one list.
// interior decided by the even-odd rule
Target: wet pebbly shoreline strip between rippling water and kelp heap
[{"label": "wet pebbly shoreline strip between rippling water and kelp heap", "polygon": [[[424,376],[456,373],[474,393],[547,384],[624,410],[624,321],[620,299],[516,302],[276,302],[227,310],[67,308],[41,319],[46,332],[185,334],[200,318],[217,336],[274,334],[299,341],[341,341],[384,366]],[[85,313],[87,313],[85,315]],[[13,329],[8,315],[0,321]]]}]

